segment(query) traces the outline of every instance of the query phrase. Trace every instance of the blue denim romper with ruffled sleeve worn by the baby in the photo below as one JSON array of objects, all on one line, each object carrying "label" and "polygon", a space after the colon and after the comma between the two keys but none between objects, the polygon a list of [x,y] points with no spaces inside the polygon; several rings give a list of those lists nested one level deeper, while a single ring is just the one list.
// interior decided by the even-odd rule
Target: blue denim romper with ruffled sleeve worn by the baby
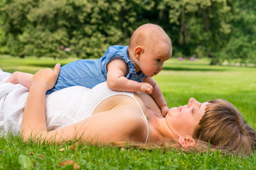
[{"label": "blue denim romper with ruffled sleeve worn by the baby", "polygon": [[107,64],[115,57],[121,57],[127,63],[129,72],[126,77],[128,79],[142,82],[146,77],[143,72],[140,72],[140,74],[135,72],[134,63],[128,57],[128,46],[113,45],[108,47],[104,56],[98,60],[77,60],[65,64],[60,69],[55,86],[46,91],[46,94],[51,94],[69,86],[93,88],[97,84],[106,81]]}]

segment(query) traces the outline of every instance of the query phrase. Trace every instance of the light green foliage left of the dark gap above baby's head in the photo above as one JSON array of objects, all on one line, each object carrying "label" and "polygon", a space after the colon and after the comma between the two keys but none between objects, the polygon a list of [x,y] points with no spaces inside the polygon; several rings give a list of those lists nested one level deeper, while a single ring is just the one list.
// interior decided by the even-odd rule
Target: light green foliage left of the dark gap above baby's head
[{"label": "light green foliage left of the dark gap above baby's head", "polygon": [[[128,45],[133,30],[143,23],[135,23],[138,12],[149,11],[152,4],[122,0],[6,1],[1,11],[8,53],[101,57],[110,45]],[[61,50],[61,45],[71,51]]]}]

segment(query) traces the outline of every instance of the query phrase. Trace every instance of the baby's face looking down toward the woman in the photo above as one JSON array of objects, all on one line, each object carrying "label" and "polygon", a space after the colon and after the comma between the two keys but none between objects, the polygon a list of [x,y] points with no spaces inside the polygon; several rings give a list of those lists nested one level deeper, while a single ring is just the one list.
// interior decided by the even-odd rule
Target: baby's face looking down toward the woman
[{"label": "baby's face looking down toward the woman", "polygon": [[145,48],[139,60],[140,69],[147,77],[153,77],[161,72],[164,62],[170,57],[170,50],[165,44]]}]

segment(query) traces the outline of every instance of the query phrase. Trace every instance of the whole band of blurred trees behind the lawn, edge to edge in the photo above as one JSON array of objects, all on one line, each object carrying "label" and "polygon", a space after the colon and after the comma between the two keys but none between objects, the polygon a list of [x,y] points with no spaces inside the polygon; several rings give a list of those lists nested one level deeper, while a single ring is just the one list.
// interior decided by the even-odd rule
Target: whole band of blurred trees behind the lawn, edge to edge
[{"label": "whole band of blurred trees behind the lawn, edge to edge", "polygon": [[256,0],[0,0],[0,55],[98,58],[144,23],[180,60],[256,64]]}]

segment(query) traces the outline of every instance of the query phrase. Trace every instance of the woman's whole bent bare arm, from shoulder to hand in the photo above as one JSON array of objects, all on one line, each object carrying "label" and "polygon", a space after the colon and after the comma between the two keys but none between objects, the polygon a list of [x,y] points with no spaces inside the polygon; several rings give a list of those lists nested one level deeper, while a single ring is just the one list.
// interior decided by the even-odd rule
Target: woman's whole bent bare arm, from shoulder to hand
[{"label": "woman's whole bent bare arm, from shoulder to hand", "polygon": [[48,132],[45,123],[45,92],[54,86],[60,65],[37,72],[32,79],[21,123],[21,136],[48,142],[81,139],[85,142],[145,141],[147,123],[137,103],[131,102],[101,112],[79,123]]}]

